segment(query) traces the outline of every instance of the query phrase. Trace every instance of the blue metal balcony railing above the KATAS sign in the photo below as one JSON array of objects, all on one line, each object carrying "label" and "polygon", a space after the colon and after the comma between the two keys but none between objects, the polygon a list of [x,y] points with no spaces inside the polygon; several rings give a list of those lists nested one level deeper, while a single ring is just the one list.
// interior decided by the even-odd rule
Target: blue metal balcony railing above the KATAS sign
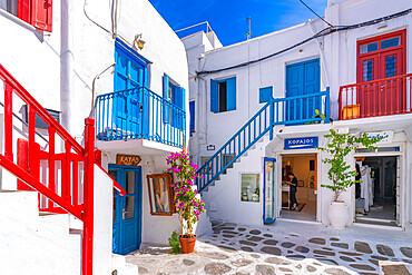
[{"label": "blue metal balcony railing above the KATAS sign", "polygon": [[100,140],[149,139],[184,147],[186,112],[145,87],[100,95],[96,99]]}]

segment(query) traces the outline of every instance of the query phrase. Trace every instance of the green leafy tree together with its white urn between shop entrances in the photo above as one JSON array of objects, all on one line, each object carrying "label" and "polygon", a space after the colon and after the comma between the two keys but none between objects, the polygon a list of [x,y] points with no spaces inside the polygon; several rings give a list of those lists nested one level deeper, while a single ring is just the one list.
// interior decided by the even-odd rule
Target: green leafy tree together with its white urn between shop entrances
[{"label": "green leafy tree together with its white urn between shop entrances", "polygon": [[376,144],[380,138],[369,138],[365,132],[356,137],[349,132],[336,132],[334,129],[331,129],[330,134],[326,134],[324,137],[331,138],[331,140],[325,148],[317,147],[317,149],[330,155],[330,157],[324,158],[322,161],[331,165],[327,176],[332,185],[321,186],[334,191],[334,198],[328,209],[328,218],[334,228],[342,229],[345,227],[349,219],[349,212],[346,204],[340,200],[340,195],[354,184],[362,181],[355,180],[357,173],[346,163],[345,157],[353,153],[360,145],[370,150],[375,149],[376,147],[373,145]]}]

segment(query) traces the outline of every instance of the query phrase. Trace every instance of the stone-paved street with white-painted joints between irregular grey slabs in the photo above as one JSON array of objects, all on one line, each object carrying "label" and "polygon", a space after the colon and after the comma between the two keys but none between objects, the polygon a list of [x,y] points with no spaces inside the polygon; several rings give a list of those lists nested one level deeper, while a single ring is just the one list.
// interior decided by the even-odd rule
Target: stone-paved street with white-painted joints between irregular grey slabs
[{"label": "stone-paved street with white-painted joints between irregular grey slabs", "polygon": [[[412,240],[403,232],[339,232],[296,223],[249,227],[220,220],[213,222],[213,230],[198,238],[193,254],[148,246],[126,261],[138,265],[139,274],[170,275],[379,274],[379,261],[412,263]],[[406,267],[401,271],[396,274],[411,274]]]}]

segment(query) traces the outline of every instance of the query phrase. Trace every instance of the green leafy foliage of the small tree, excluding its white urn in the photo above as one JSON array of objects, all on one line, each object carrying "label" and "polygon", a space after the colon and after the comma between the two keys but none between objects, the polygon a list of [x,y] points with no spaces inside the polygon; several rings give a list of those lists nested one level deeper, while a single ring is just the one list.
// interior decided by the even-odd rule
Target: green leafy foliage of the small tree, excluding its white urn
[{"label": "green leafy foliage of the small tree, excluding its white urn", "polygon": [[356,137],[349,132],[339,134],[334,129],[331,129],[330,134],[326,134],[324,137],[331,138],[332,140],[325,148],[317,147],[316,149],[330,155],[328,158],[324,158],[322,161],[331,165],[327,176],[332,180],[333,185],[321,186],[333,190],[335,193],[333,202],[339,202],[337,199],[342,191],[356,183],[362,183],[362,180],[354,180],[357,171],[351,169],[351,166],[345,161],[345,157],[356,150],[360,145],[370,150],[376,149],[373,145],[382,138],[369,138],[365,132],[361,137]]}]

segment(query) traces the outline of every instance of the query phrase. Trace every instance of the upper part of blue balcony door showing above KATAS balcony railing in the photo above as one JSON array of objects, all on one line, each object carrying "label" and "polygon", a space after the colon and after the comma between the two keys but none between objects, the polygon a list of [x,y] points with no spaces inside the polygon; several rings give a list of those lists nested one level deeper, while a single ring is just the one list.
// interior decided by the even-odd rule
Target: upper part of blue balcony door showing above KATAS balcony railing
[{"label": "upper part of blue balcony door showing above KATAS balcony railing", "polygon": [[146,87],[150,61],[119,39],[115,43],[115,91]]}]

